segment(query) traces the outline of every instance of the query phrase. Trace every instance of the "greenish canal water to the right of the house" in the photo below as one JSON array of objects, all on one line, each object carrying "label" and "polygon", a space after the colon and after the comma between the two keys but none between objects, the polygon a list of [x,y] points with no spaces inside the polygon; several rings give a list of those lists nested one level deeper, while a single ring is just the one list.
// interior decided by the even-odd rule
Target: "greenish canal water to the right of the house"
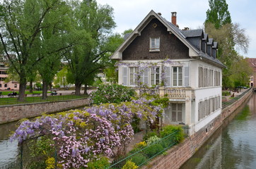
[{"label": "greenish canal water to the right of the house", "polygon": [[180,169],[192,168],[256,168],[255,93]]}]

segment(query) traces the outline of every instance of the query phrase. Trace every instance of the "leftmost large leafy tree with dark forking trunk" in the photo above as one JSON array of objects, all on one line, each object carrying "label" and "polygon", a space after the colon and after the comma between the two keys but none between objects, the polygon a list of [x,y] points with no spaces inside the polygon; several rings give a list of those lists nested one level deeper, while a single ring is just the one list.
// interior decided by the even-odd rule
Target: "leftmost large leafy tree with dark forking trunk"
[{"label": "leftmost large leafy tree with dark forking trunk", "polygon": [[61,0],[4,0],[1,5],[5,11],[0,19],[1,44],[10,67],[19,77],[18,101],[23,101],[29,72],[45,58],[35,54],[42,31],[52,27],[52,23],[44,25],[44,20],[63,4]]}]

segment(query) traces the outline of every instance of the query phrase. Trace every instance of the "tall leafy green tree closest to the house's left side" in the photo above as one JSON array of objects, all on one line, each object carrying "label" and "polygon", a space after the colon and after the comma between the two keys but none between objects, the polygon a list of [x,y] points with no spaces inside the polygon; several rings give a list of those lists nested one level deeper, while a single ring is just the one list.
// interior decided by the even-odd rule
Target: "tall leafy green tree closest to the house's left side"
[{"label": "tall leafy green tree closest to the house's left side", "polygon": [[100,60],[110,51],[107,37],[115,27],[110,6],[98,6],[95,0],[75,1],[74,36],[77,44],[64,55],[69,63],[69,82],[76,85],[76,94],[80,94],[81,85],[87,86],[99,70],[105,67]]}]

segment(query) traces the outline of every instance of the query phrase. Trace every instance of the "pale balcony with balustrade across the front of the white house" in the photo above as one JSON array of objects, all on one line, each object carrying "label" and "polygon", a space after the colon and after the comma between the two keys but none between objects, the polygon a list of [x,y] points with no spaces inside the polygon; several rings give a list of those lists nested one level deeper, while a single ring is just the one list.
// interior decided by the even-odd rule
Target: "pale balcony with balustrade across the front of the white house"
[{"label": "pale balcony with balustrade across the front of the white house", "polygon": [[159,88],[134,88],[136,93],[142,94],[158,94],[159,96],[167,96],[170,100],[177,99],[178,101],[185,101],[186,98],[194,99],[194,89],[190,87],[159,87]]}]

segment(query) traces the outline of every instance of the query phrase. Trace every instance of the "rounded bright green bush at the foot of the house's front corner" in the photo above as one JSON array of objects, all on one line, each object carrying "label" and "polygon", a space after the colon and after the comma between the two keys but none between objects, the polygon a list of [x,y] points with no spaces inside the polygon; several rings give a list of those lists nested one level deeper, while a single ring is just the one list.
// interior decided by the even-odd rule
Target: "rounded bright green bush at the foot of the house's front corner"
[{"label": "rounded bright green bush at the foot of the house's front corner", "polygon": [[183,129],[179,125],[166,125],[163,127],[163,130],[161,130],[160,135],[161,137],[167,137],[168,135],[172,134],[173,132],[176,132],[173,134],[173,142],[179,143],[182,142],[182,140],[185,137],[185,134],[183,132]]}]

